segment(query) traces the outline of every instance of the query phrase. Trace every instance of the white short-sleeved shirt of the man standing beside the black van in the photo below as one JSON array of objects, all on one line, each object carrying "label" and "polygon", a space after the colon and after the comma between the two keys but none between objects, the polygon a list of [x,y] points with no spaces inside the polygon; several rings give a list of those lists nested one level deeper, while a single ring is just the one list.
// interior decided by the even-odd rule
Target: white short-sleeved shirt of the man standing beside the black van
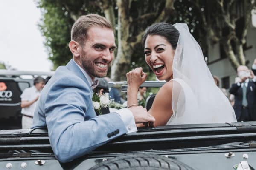
[{"label": "white short-sleeved shirt of the man standing beside the black van", "polygon": [[[20,98],[21,101],[31,101],[34,100],[37,96],[40,96],[41,91],[38,91],[35,86],[33,85],[30,88],[26,88],[23,93],[21,94]],[[36,107],[37,102],[34,102],[32,105],[22,108],[21,114],[25,114],[28,116],[34,116],[34,111]]]}]

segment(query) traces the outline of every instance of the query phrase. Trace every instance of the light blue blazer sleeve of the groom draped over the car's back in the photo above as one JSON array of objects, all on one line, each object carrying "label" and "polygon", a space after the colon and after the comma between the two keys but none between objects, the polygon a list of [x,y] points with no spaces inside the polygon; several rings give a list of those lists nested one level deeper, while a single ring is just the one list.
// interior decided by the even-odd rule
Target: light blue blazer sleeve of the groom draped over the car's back
[{"label": "light blue blazer sleeve of the groom draped over the car's back", "polygon": [[58,81],[48,92],[44,110],[52,150],[64,163],[83,156],[127,130],[117,113],[87,119],[92,102],[89,87],[85,83],[74,85],[73,81],[63,81],[65,83]]}]

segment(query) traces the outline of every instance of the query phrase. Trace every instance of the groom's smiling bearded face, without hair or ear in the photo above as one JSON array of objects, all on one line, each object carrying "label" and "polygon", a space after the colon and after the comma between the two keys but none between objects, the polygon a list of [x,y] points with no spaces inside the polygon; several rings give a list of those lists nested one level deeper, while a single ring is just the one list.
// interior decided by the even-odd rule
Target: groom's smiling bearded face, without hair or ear
[{"label": "groom's smiling bearded face, without hair or ear", "polygon": [[87,31],[87,38],[81,48],[81,65],[90,77],[105,77],[113,60],[116,48],[113,30],[93,26]]}]

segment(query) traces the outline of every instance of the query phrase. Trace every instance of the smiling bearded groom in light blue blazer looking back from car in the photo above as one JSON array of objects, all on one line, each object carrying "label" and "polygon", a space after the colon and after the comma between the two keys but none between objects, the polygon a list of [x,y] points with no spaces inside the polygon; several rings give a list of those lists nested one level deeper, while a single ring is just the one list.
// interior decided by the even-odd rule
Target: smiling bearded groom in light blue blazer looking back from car
[{"label": "smiling bearded groom in light blue blazer looking back from car", "polygon": [[96,116],[95,77],[105,77],[116,48],[111,23],[97,14],[79,17],[69,43],[73,59],[60,66],[41,92],[32,128],[47,127],[56,158],[68,162],[125,133],[135,123],[154,122],[141,106]]}]

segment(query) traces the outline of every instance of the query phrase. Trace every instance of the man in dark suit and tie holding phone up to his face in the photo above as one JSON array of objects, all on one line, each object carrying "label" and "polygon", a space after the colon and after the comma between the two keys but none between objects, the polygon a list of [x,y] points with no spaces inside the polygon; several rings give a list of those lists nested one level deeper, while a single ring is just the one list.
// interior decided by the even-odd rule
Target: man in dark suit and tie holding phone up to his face
[{"label": "man in dark suit and tie holding phone up to his face", "polygon": [[234,110],[237,121],[256,120],[256,76],[247,66],[237,68],[239,81],[232,84],[230,94],[235,96]]}]

